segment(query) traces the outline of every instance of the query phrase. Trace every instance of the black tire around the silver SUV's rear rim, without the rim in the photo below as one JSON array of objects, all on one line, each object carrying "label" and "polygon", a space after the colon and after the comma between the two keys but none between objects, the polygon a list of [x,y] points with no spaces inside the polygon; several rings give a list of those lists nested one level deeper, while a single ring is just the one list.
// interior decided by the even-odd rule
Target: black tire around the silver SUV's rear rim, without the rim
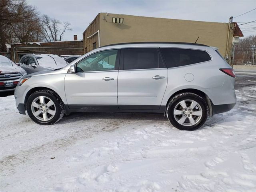
[{"label": "black tire around the silver SUV's rear rim, without the rim", "polygon": [[[174,116],[174,109],[175,107],[182,101],[184,100],[193,100],[195,102],[197,102],[200,107],[201,107],[201,110],[202,110],[202,116],[201,118],[197,117],[197,116],[193,116],[194,118],[198,118],[198,122],[194,125],[188,125],[188,126],[184,126],[180,123],[178,123],[177,121],[177,118],[176,117],[184,117],[184,114],[182,115],[176,115]],[[198,107],[197,107],[198,108]],[[196,109],[194,109],[196,110]],[[186,111],[188,112],[188,111]],[[189,93],[189,92],[186,92],[186,93],[181,93],[181,94],[178,94],[176,96],[174,96],[170,102],[167,104],[167,109],[166,109],[166,116],[169,120],[169,122],[176,128],[178,128],[179,130],[188,130],[188,131],[192,131],[192,130],[196,130],[198,128],[200,128],[201,126],[204,125],[207,117],[208,117],[208,105],[206,104],[206,101],[194,94],[194,93]],[[191,115],[192,117],[192,115]],[[186,117],[184,117],[186,118]],[[179,119],[178,119],[179,120]],[[190,120],[188,119],[188,117],[186,118],[185,122],[190,122]],[[190,124],[190,123],[188,123]]]}]

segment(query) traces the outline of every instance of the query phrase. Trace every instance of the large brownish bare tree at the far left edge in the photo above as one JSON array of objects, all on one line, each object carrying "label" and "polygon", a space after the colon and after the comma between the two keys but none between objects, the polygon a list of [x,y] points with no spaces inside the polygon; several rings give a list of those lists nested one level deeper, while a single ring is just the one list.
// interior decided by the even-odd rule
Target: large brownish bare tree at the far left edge
[{"label": "large brownish bare tree at the far left edge", "polygon": [[0,0],[0,52],[6,43],[44,40],[40,15],[26,0]]}]

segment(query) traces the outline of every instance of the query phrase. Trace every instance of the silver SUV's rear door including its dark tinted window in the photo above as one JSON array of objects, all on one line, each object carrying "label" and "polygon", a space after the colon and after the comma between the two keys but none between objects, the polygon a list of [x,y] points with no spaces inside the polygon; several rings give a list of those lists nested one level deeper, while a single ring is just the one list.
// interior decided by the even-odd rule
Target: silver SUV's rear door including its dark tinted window
[{"label": "silver SUV's rear door including its dark tinted window", "polygon": [[158,110],[168,70],[158,48],[123,48],[118,74],[118,108]]}]

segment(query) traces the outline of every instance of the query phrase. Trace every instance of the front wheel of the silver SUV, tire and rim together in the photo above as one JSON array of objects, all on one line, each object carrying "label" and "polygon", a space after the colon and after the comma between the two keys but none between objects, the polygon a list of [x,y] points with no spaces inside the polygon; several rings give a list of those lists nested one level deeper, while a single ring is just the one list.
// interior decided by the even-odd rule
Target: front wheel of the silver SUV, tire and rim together
[{"label": "front wheel of the silver SUV, tire and rim together", "polygon": [[31,94],[26,103],[28,116],[37,124],[49,125],[60,120],[65,113],[60,97],[51,90]]}]

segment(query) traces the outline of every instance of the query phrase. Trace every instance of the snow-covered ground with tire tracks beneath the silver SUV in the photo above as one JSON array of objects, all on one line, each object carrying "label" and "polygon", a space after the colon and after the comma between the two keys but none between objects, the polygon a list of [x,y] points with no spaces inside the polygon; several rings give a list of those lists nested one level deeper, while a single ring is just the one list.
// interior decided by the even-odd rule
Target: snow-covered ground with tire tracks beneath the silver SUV
[{"label": "snow-covered ground with tire tracks beneath the silver SUV", "polygon": [[162,114],[76,113],[52,126],[0,98],[0,191],[255,192],[256,86],[193,132]]}]

